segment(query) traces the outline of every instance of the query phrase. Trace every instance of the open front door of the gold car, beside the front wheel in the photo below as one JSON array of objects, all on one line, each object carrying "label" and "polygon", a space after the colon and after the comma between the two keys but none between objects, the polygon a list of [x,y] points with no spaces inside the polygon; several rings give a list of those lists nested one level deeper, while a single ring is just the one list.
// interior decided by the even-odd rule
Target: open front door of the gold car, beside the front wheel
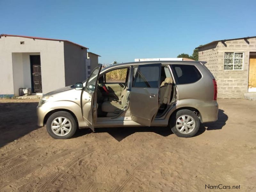
[{"label": "open front door of the gold car, beside the front wheel", "polygon": [[92,71],[81,96],[83,118],[92,131],[94,131],[93,122],[96,122],[97,120],[97,98],[95,97],[95,94],[101,67],[102,65]]}]

